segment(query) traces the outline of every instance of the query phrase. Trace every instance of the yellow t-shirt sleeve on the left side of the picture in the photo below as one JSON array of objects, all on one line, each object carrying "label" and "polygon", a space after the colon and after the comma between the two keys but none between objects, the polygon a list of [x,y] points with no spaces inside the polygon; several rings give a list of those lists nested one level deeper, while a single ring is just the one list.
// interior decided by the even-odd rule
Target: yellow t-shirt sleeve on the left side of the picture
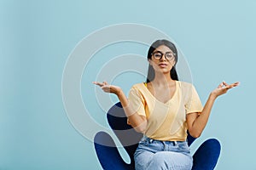
[{"label": "yellow t-shirt sleeve on the left side of the picture", "polygon": [[[145,113],[145,100],[143,94],[138,88],[132,87],[128,95],[129,107],[133,113],[137,112],[138,115],[146,116]],[[127,118],[127,123],[129,123],[129,117]]]}]

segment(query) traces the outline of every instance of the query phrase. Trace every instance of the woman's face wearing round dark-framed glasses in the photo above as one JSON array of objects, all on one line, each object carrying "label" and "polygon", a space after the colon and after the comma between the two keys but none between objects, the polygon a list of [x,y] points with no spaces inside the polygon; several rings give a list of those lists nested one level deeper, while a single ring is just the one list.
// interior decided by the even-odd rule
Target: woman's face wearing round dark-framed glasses
[{"label": "woman's face wearing round dark-framed glasses", "polygon": [[154,71],[160,71],[162,73],[170,72],[172,66],[175,65],[175,57],[170,48],[165,45],[161,45],[156,48],[148,59],[149,65],[152,65]]}]

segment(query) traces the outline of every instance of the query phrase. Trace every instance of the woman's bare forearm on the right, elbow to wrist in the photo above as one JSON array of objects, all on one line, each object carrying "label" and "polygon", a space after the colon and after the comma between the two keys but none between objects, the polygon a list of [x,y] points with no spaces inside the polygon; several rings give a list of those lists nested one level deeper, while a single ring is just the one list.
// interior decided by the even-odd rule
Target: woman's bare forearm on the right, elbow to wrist
[{"label": "woman's bare forearm on the right, elbow to wrist", "polygon": [[203,110],[201,111],[201,115],[197,116],[195,119],[195,122],[193,122],[191,132],[189,132],[193,136],[199,137],[203,131],[203,129],[206,127],[210,113],[212,111],[212,105],[217,97],[213,94],[210,94],[207,103],[204,106]]}]

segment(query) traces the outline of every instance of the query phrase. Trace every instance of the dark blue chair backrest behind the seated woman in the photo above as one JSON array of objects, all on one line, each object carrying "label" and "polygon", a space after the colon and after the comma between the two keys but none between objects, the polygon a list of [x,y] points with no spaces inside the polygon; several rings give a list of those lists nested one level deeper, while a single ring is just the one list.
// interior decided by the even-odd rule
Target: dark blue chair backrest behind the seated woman
[{"label": "dark blue chair backrest behind the seated woman", "polygon": [[[107,114],[108,124],[113,129],[113,132],[118,137],[121,144],[124,145],[128,155],[132,158],[135,150],[137,149],[137,143],[143,138],[142,133],[137,133],[133,127],[127,124],[127,118],[125,111],[122,108],[120,102],[113,105]],[[188,144],[192,144],[195,138],[188,133]],[[133,161],[133,159],[131,159]]]}]

